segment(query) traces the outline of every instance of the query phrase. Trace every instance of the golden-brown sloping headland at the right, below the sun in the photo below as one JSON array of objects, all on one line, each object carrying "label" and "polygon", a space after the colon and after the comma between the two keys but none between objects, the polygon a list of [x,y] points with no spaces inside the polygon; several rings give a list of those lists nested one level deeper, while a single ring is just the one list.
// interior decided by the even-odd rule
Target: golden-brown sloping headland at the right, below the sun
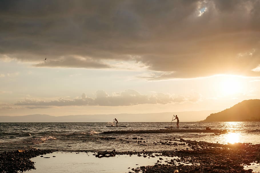
[{"label": "golden-brown sloping headland at the right, below the sun", "polygon": [[260,100],[244,100],[229,109],[210,114],[203,121],[260,121]]}]

